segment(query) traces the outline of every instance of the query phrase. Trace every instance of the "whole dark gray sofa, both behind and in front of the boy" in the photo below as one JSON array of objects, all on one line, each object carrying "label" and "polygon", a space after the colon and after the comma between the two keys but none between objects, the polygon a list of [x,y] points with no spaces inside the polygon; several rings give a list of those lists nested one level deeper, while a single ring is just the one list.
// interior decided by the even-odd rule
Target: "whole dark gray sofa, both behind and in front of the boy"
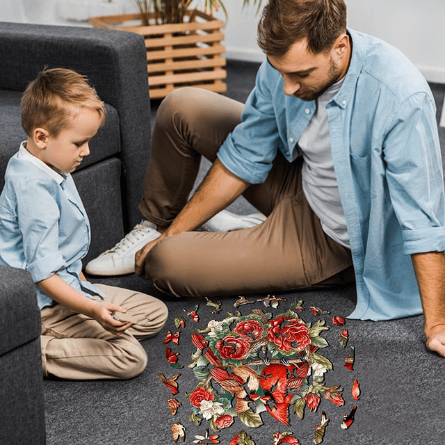
[{"label": "whole dark gray sofa, both behind and in front of the boy", "polygon": [[[73,174],[90,218],[88,261],[140,219],[140,185],[151,134],[144,40],[122,31],[0,23],[0,61],[0,190],[8,160],[26,138],[20,124],[22,92],[44,67],[85,74],[106,103],[106,124]],[[28,273],[8,267],[0,268],[0,282],[0,444],[42,444],[35,286]]]}]

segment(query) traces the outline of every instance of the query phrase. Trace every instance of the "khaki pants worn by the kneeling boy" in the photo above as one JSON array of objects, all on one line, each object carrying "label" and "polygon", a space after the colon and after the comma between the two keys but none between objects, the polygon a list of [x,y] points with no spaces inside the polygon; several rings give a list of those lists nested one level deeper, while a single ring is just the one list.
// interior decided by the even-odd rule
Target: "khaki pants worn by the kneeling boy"
[{"label": "khaki pants worn by the kneeling boy", "polygon": [[55,305],[42,309],[43,374],[72,380],[128,379],[142,373],[147,355],[139,340],[159,332],[168,309],[157,298],[96,284],[106,302],[143,318],[116,336],[92,318]]}]

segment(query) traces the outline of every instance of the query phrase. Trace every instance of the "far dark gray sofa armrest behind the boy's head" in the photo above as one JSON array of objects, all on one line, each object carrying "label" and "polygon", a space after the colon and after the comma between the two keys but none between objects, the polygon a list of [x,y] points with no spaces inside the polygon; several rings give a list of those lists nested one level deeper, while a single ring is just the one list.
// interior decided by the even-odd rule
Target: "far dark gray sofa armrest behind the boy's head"
[{"label": "far dark gray sofa armrest behind the boy's head", "polygon": [[147,56],[142,36],[78,26],[0,22],[0,89],[23,91],[44,67],[88,76],[120,117],[124,229],[138,223],[151,129]]}]

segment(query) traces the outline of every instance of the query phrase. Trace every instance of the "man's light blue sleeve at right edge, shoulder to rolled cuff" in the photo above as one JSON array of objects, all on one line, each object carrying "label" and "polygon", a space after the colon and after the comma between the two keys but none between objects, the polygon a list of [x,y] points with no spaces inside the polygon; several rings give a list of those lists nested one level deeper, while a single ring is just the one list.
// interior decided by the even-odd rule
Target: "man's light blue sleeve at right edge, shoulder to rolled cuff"
[{"label": "man's light blue sleeve at right edge, shoulder to rolled cuff", "polygon": [[403,252],[445,250],[445,197],[435,105],[426,93],[405,100],[385,138],[387,184]]}]

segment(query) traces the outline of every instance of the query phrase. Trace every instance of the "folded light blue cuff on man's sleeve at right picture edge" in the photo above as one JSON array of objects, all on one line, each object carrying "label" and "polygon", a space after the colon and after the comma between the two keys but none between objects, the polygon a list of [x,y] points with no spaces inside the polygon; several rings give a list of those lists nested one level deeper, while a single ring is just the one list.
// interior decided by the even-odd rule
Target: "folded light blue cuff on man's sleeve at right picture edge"
[{"label": "folded light blue cuff on man's sleeve at right picture edge", "polygon": [[445,227],[403,231],[403,252],[407,255],[444,251]]}]

